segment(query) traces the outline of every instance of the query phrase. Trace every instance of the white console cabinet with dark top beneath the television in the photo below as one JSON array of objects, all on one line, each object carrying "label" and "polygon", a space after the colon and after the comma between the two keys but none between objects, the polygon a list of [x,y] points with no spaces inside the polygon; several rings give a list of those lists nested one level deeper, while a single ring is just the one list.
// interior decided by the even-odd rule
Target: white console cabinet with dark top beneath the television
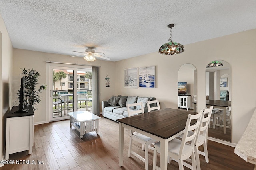
[{"label": "white console cabinet with dark top beneath the television", "polygon": [[5,159],[9,154],[28,150],[32,154],[34,139],[34,111],[32,106],[25,113],[15,113],[19,106],[12,107],[6,116],[6,150]]}]

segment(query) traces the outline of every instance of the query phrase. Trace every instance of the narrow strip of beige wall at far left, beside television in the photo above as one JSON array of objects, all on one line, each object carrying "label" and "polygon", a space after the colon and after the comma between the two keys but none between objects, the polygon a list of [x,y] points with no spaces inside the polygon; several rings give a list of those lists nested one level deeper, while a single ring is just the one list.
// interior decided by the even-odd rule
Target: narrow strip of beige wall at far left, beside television
[{"label": "narrow strip of beige wall at far left, beside television", "polygon": [[[6,30],[2,16],[0,15],[0,158],[4,160],[6,119],[5,115],[12,106],[12,43]],[[0,164],[1,166],[2,164]]]}]

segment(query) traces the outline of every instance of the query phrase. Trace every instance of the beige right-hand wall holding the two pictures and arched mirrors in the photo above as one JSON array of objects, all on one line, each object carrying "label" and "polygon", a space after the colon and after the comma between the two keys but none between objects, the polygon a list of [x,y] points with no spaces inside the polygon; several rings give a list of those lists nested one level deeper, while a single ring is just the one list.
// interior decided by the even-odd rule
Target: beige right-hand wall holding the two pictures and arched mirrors
[{"label": "beige right-hand wall holding the two pictures and arched mirrors", "polygon": [[[179,55],[160,55],[155,52],[117,61],[116,77],[118,79],[115,82],[115,95],[154,96],[159,99],[161,108],[177,108],[178,70],[183,64],[191,63],[197,69],[198,108],[202,109],[205,107],[206,65],[213,60],[224,60],[230,64],[232,75],[232,142],[238,143],[256,107],[254,92],[251,92],[251,89],[245,89],[246,85],[256,84],[256,79],[252,78],[256,74],[255,36],[256,29],[252,29],[185,45],[184,53]],[[124,88],[125,68],[152,65],[156,65],[156,88]]]}]

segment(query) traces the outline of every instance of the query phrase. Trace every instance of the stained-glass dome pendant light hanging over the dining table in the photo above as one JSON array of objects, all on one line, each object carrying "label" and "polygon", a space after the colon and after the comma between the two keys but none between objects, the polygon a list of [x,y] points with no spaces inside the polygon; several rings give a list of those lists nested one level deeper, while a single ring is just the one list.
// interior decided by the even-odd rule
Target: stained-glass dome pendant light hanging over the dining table
[{"label": "stained-glass dome pendant light hanging over the dining table", "polygon": [[184,46],[180,43],[172,42],[172,27],[174,27],[174,24],[169,24],[167,27],[171,29],[171,37],[168,39],[170,42],[162,45],[159,49],[159,53],[165,55],[183,53],[185,51]]}]

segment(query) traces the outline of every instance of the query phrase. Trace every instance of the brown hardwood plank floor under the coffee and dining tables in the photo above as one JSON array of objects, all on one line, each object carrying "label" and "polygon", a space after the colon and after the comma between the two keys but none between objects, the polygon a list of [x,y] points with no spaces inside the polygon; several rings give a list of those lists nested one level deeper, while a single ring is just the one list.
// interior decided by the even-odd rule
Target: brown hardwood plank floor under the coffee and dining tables
[{"label": "brown hardwood plank floor under the coffee and dining tables", "polygon": [[[69,120],[35,125],[32,154],[27,155],[26,151],[10,154],[9,160],[15,160],[15,164],[6,164],[0,170],[144,170],[144,162],[133,155],[128,158],[128,144],[129,131],[125,129],[124,166],[120,167],[118,123],[115,121],[102,117],[99,134],[87,133],[82,139],[74,127],[70,128]],[[135,141],[133,150],[144,155],[141,145]],[[209,163],[206,163],[204,157],[200,155],[202,170],[253,169],[252,164],[234,154],[233,147],[208,141],[208,153]],[[149,150],[149,169],[152,169],[152,159],[153,151]],[[31,164],[26,162],[17,164],[16,160],[28,161],[27,163]],[[43,164],[38,164],[38,161]],[[157,162],[160,165],[160,155]],[[178,163],[172,161],[168,164],[168,169],[178,170]]]}]

